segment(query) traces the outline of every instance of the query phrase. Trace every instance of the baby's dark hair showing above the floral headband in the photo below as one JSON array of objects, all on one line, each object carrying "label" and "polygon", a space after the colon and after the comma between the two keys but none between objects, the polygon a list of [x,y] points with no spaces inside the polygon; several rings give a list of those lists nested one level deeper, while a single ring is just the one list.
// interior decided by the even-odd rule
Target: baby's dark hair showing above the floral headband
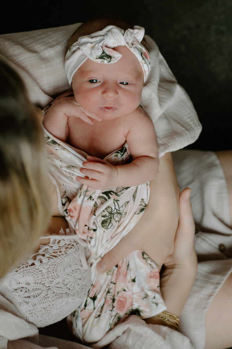
[{"label": "baby's dark hair showing above the floral headband", "polygon": [[[70,48],[79,39],[80,36],[90,35],[96,31],[104,29],[105,27],[107,27],[107,25],[115,25],[116,27],[119,27],[124,30],[134,28],[134,25],[122,20],[121,18],[114,16],[98,16],[90,18],[86,22],[82,23],[80,27],[78,27],[74,31],[71,38],[69,39],[68,48]],[[147,43],[145,38],[143,38],[141,44],[147,50]]]}]

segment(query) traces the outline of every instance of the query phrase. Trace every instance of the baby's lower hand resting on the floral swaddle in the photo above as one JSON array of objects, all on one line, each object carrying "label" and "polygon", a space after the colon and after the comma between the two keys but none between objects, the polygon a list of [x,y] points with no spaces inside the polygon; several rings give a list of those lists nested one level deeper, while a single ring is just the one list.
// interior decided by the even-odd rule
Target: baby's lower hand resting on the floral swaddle
[{"label": "baby's lower hand resting on the floral swaddle", "polygon": [[88,155],[87,160],[82,163],[85,168],[80,169],[85,178],[76,177],[80,183],[93,189],[106,189],[116,186],[118,170],[115,166],[95,156]]}]

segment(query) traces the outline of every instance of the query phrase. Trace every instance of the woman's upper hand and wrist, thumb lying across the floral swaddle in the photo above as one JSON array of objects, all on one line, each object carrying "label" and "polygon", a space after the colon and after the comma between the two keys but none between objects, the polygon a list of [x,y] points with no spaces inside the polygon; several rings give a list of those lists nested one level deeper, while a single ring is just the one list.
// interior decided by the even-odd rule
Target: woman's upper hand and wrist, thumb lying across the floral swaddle
[{"label": "woman's upper hand and wrist, thumb lying across the floral swaddle", "polygon": [[160,158],[157,176],[150,182],[149,203],[136,226],[98,263],[99,272],[111,269],[130,252],[143,250],[159,269],[173,252],[179,219],[179,185],[171,153]]}]

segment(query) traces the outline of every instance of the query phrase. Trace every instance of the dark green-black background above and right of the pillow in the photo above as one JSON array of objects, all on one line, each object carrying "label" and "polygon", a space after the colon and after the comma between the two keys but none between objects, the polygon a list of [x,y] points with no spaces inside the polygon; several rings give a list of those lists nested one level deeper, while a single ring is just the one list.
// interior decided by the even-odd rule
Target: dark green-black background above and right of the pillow
[{"label": "dark green-black background above and right of the pillow", "polygon": [[2,12],[1,34],[85,21],[117,14],[145,27],[189,94],[203,131],[195,149],[231,149],[232,1],[39,1]]}]

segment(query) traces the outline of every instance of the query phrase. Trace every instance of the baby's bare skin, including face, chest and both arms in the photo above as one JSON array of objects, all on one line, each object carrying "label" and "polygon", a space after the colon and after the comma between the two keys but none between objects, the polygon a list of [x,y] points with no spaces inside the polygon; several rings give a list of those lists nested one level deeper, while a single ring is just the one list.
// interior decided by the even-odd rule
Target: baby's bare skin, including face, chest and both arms
[{"label": "baby's bare skin, including face, chest and both arms", "polygon": [[[119,61],[101,64],[87,59],[73,76],[74,97],[55,101],[43,120],[51,134],[89,154],[80,169],[84,178],[77,180],[93,189],[146,183],[159,166],[154,126],[139,106],[142,68],[127,47],[114,49],[122,54]],[[77,102],[83,112],[88,111],[84,117]],[[131,163],[113,166],[104,161],[125,142]]]}]

